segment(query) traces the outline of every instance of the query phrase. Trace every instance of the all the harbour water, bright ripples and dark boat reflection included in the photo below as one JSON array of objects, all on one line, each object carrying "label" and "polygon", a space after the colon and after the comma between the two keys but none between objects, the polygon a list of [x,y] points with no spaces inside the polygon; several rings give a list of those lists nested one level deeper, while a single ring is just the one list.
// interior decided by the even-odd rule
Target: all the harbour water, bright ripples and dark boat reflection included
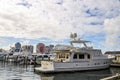
[{"label": "all the harbour water, bright ripples and dark boat reflection included", "polygon": [[74,73],[38,74],[32,65],[23,66],[0,62],[0,80],[99,80],[120,73],[120,68]]}]

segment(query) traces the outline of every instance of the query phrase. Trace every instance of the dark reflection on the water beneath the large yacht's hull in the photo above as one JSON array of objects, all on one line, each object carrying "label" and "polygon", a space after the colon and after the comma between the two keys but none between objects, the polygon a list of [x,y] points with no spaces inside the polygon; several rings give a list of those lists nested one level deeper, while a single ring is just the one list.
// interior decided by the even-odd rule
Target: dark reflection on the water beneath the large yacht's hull
[{"label": "dark reflection on the water beneath the large yacht's hull", "polygon": [[40,74],[41,80],[99,80],[112,75],[110,69],[57,74]]}]

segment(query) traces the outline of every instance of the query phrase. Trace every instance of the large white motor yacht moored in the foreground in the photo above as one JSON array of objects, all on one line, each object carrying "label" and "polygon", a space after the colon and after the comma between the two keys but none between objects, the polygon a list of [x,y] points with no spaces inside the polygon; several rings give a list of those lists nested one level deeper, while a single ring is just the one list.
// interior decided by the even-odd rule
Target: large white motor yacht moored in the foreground
[{"label": "large white motor yacht moored in the foreground", "polygon": [[[70,42],[71,45],[56,45],[53,61],[41,61],[41,67],[35,70],[43,73],[66,72],[82,70],[98,70],[108,68],[111,59],[103,55],[100,49],[93,49],[87,46],[90,41],[75,39]],[[73,44],[82,44],[75,47]]]}]

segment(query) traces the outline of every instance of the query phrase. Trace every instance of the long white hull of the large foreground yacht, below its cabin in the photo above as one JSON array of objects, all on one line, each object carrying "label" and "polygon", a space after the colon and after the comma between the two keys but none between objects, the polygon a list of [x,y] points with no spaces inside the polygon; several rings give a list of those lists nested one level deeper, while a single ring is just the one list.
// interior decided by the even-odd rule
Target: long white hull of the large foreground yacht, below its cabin
[{"label": "long white hull of the large foreground yacht, below its cabin", "polygon": [[[85,70],[106,69],[110,66],[110,60],[87,61],[87,62],[42,62],[42,66],[35,68],[36,71],[42,73],[51,72],[73,72]],[[106,62],[106,63],[104,63]]]}]

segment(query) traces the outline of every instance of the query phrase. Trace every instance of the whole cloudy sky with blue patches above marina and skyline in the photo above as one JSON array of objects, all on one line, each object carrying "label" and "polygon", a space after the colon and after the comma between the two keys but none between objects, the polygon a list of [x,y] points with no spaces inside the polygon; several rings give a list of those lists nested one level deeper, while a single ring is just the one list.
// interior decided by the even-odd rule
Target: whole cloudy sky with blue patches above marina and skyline
[{"label": "whole cloudy sky with blue patches above marina and skyline", "polygon": [[0,0],[0,48],[67,44],[70,33],[120,50],[120,0]]}]

